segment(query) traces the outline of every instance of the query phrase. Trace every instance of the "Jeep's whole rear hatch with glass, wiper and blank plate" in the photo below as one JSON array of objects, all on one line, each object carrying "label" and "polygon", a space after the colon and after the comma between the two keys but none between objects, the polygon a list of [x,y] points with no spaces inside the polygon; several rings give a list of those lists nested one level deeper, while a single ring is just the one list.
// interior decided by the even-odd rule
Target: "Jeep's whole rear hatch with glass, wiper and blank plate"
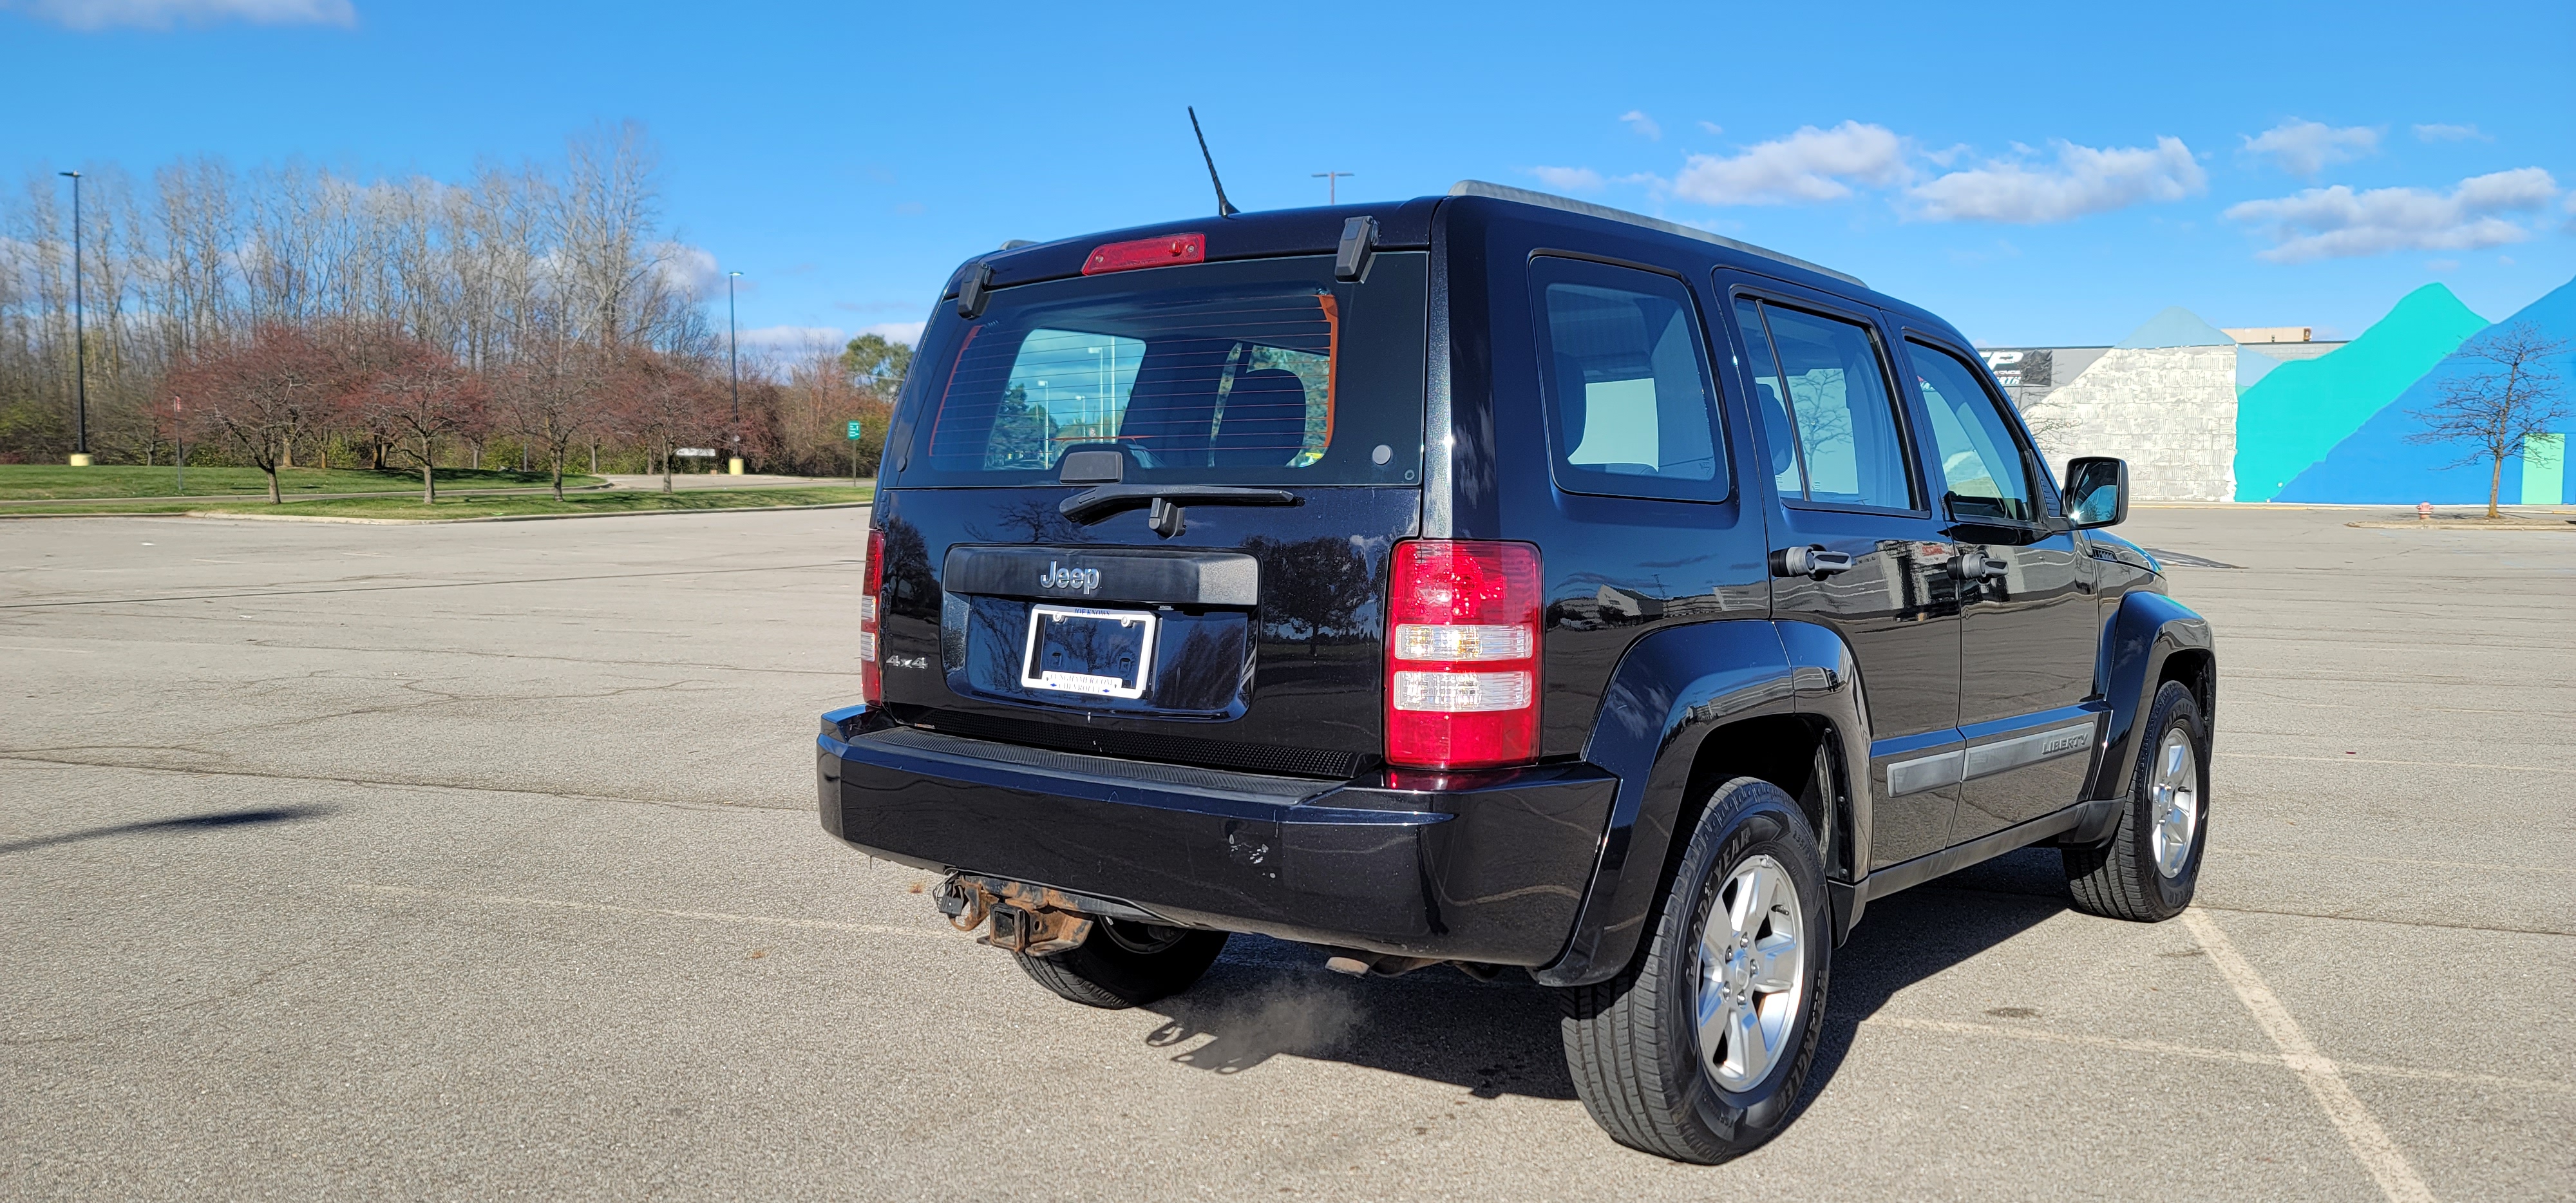
[{"label": "Jeep's whole rear hatch with glass, wiper and blank plate", "polygon": [[891,716],[1249,773],[1376,765],[1425,304],[1425,252],[1360,281],[1293,255],[943,304],[876,513]]}]

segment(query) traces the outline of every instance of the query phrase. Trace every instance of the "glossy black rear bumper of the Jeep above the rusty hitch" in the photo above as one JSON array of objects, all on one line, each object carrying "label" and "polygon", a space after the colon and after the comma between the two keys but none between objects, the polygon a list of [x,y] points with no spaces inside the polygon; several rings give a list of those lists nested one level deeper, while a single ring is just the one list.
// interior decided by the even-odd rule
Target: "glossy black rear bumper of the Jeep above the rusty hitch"
[{"label": "glossy black rear bumper of the Jeep above the rusty hitch", "polygon": [[1324,783],[909,726],[827,732],[817,768],[822,827],[868,855],[1180,925],[1510,966],[1564,951],[1618,788],[1592,765]]}]

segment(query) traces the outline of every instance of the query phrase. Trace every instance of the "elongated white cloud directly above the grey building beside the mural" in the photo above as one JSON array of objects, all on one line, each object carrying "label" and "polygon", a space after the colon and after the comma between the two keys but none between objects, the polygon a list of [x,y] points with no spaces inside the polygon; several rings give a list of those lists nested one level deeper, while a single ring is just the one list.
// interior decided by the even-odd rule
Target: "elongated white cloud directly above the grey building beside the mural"
[{"label": "elongated white cloud directly above the grey building beside the mural", "polygon": [[2154,147],[2094,149],[2053,142],[2058,162],[2030,167],[2014,160],[1955,170],[1906,191],[1924,222],[2014,222],[2048,224],[2087,214],[2107,214],[2143,201],[2179,201],[2208,191],[2182,139],[2159,137]]}]

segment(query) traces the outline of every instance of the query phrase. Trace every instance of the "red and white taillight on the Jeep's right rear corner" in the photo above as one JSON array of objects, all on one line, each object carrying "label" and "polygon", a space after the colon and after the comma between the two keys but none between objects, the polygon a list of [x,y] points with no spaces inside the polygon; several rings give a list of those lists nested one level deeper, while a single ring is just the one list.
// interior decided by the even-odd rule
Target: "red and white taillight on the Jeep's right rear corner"
[{"label": "red and white taillight on the Jeep's right rear corner", "polygon": [[1538,549],[1396,544],[1386,598],[1386,760],[1517,765],[1538,752]]}]

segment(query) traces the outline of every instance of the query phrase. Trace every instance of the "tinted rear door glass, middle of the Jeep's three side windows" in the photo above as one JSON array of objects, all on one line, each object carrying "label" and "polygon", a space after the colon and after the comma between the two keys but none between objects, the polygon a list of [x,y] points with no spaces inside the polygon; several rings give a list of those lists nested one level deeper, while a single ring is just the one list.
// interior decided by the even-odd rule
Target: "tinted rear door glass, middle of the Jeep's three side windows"
[{"label": "tinted rear door glass, middle of the Jeep's three side windows", "polygon": [[1775,464],[1783,497],[1917,507],[1904,425],[1870,327],[1770,301],[1739,301],[1739,317],[1747,348],[1770,343],[1767,355],[1754,348],[1754,392],[1765,392],[1757,412],[1767,425],[1785,422],[1798,451],[1795,477]]}]

